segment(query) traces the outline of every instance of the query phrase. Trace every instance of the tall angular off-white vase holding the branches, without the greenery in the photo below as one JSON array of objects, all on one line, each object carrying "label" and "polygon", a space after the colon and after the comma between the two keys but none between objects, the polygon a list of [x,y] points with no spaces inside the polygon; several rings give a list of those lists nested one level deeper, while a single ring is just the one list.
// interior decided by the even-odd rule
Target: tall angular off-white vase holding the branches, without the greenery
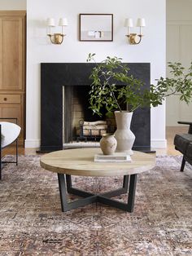
[{"label": "tall angular off-white vase holding the branches, without the greenery", "polygon": [[135,135],[133,135],[133,132],[130,130],[132,116],[132,112],[115,112],[115,138],[117,140],[116,152],[127,152],[129,155],[133,155],[132,147],[135,140]]}]

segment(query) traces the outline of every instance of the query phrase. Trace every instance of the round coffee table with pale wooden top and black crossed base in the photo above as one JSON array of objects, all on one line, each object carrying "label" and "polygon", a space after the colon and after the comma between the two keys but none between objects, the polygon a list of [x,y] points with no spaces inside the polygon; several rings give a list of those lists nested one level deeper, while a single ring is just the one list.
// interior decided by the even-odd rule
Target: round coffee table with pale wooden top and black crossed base
[{"label": "round coffee table with pale wooden top and black crossed base", "polygon": [[[101,153],[100,148],[78,148],[50,152],[41,157],[41,167],[58,174],[62,211],[72,210],[98,201],[121,210],[133,212],[137,174],[151,170],[155,166],[155,155],[135,151],[131,156],[132,162],[95,162],[94,155],[98,153]],[[102,194],[85,192],[72,188],[71,175],[124,176],[123,187]],[[84,198],[68,202],[67,192]],[[127,203],[111,199],[113,196],[120,196],[127,192]]]}]

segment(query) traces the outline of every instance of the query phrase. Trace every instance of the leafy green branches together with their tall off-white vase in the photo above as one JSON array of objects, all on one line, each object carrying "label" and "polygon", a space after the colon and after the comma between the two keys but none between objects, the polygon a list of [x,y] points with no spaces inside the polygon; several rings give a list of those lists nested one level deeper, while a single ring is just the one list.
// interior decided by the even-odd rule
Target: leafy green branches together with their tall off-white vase
[{"label": "leafy green branches together with their tall off-white vase", "polygon": [[[89,54],[87,61],[94,60],[95,54]],[[95,60],[94,60],[95,62]],[[115,112],[117,130],[117,151],[128,152],[134,142],[130,122],[133,111],[139,107],[163,104],[168,95],[180,95],[180,99],[189,104],[192,97],[192,63],[187,73],[180,63],[168,63],[172,78],[160,77],[151,90],[143,89],[143,82],[129,74],[129,67],[121,58],[107,57],[92,69],[89,91],[89,104],[94,114],[102,116],[106,108],[107,115]],[[117,86],[117,85],[122,86]],[[125,107],[125,109],[124,109]]]}]

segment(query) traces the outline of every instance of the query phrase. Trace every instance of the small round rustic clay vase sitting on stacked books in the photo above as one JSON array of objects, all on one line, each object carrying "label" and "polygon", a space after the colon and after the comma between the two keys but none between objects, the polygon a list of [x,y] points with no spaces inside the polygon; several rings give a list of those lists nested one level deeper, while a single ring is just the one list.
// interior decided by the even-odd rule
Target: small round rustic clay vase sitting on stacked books
[{"label": "small round rustic clay vase sitting on stacked books", "polygon": [[112,134],[102,135],[100,140],[100,147],[102,149],[103,155],[112,155],[116,151],[116,138]]}]

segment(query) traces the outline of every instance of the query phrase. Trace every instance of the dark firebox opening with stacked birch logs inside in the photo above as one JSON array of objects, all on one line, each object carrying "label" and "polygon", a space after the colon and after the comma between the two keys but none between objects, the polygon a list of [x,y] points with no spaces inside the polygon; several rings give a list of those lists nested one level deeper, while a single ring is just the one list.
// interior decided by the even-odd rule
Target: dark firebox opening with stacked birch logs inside
[{"label": "dark firebox opening with stacked birch logs inside", "polygon": [[90,86],[63,86],[63,142],[96,142],[103,133],[116,130],[114,117],[107,117],[103,108],[103,117],[93,114],[89,108]]}]

